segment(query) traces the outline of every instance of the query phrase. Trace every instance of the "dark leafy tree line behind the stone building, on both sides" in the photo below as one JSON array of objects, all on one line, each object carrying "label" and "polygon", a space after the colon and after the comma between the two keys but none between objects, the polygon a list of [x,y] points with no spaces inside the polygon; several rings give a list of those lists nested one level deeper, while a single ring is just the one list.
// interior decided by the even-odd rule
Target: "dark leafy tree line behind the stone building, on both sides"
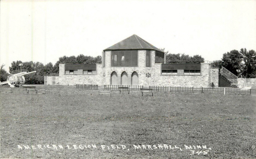
[{"label": "dark leafy tree line behind the stone building, on both sides", "polygon": [[[202,63],[205,62],[204,58],[200,55],[189,56],[185,54],[170,54],[165,49],[161,49],[166,54],[166,63]],[[36,70],[35,74],[26,75],[25,84],[44,84],[44,76],[59,76],[59,64],[67,63],[84,63],[94,64],[101,63],[101,56],[63,56],[53,65],[49,62],[43,64],[40,62],[22,62],[13,61],[9,67],[10,74],[20,72],[19,64],[22,63],[22,72],[32,72]],[[225,67],[233,74],[240,78],[256,78],[256,52],[254,50],[247,51],[241,49],[240,51],[231,50],[223,54],[222,60],[214,61],[219,68]],[[0,80],[6,81],[9,75],[3,69],[4,64],[0,67]]]}]

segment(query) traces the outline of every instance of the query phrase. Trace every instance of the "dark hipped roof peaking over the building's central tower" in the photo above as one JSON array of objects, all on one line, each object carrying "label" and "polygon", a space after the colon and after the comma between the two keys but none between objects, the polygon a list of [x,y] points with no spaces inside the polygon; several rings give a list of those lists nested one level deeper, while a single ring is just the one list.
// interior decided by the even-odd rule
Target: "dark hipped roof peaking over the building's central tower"
[{"label": "dark hipped roof peaking over the building's central tower", "polygon": [[103,51],[107,51],[107,50],[141,50],[141,49],[161,51],[160,49],[156,48],[152,44],[149,44],[148,42],[146,42],[146,40],[143,40],[142,38],[136,36],[135,34],[129,38],[122,40],[121,42],[119,42],[113,46],[110,46],[109,48],[107,48]]}]

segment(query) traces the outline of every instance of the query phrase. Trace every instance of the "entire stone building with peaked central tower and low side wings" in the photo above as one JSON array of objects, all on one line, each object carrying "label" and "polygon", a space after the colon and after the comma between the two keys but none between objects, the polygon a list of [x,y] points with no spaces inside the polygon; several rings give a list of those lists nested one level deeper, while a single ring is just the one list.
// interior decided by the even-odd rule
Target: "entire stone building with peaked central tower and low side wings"
[{"label": "entire stone building with peaked central tower and low side wings", "polygon": [[60,85],[218,86],[211,63],[165,63],[160,49],[133,35],[103,50],[100,64],[60,64]]}]

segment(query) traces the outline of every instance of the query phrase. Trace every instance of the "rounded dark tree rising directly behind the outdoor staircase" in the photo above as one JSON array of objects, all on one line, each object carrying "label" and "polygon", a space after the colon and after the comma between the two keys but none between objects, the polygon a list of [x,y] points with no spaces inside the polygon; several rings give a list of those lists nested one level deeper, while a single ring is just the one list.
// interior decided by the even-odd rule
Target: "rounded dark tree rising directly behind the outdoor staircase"
[{"label": "rounded dark tree rising directly behind the outdoor staircase", "polygon": [[242,54],[237,50],[231,50],[223,54],[222,66],[228,69],[231,73],[238,76],[238,72],[242,67]]}]

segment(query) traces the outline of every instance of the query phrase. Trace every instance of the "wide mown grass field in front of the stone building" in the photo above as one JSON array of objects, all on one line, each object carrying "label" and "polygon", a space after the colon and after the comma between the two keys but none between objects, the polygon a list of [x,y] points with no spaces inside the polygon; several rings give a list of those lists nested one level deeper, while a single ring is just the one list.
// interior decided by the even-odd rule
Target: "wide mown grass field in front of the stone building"
[{"label": "wide mown grass field in front of the stone building", "polygon": [[1,158],[256,158],[253,96],[88,92],[1,93]]}]

